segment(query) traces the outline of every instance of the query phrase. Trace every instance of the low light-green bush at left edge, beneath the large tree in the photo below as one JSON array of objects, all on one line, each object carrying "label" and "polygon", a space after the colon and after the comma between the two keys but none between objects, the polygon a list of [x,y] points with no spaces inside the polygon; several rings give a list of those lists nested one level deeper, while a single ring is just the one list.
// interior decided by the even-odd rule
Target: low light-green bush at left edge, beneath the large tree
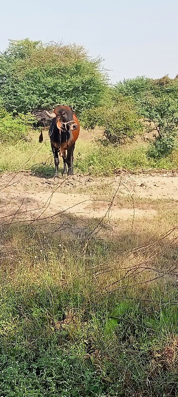
[{"label": "low light-green bush at left edge, beneath the large tree", "polygon": [[31,114],[19,113],[13,117],[13,114],[8,113],[0,104],[0,143],[15,144],[18,140],[25,139],[33,122]]}]

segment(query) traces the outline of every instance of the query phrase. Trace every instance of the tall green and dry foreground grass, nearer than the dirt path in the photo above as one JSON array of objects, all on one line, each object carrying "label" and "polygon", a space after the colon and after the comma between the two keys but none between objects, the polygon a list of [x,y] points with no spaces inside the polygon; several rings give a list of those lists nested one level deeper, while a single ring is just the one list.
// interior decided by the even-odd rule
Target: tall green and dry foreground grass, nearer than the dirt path
[{"label": "tall green and dry foreground grass, nearer than the dirt path", "polygon": [[114,240],[104,222],[87,245],[50,223],[6,229],[0,396],[177,396],[177,232],[157,242],[176,211],[118,222]]}]

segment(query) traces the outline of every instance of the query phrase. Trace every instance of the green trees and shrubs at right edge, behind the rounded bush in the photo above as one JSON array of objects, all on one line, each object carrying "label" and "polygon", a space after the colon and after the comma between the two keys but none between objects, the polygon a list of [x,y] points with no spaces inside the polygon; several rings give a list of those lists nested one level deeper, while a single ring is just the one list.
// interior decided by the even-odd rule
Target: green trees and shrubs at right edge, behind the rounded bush
[{"label": "green trees and shrubs at right edge, behind the rounded bush", "polygon": [[158,136],[148,149],[148,156],[169,155],[176,145],[178,127],[178,79],[167,75],[156,80],[145,77],[124,80],[115,88],[115,96],[124,95],[134,101],[137,112],[154,122]]}]

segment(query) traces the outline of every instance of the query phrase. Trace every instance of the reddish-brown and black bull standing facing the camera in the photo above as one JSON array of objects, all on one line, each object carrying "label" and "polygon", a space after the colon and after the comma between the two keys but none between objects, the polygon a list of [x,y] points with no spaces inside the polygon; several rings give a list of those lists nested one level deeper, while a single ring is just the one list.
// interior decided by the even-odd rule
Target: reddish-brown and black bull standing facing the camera
[{"label": "reddish-brown and black bull standing facing the camera", "polygon": [[[79,120],[69,106],[58,105],[55,107],[53,113],[50,114],[46,111],[46,114],[53,119],[49,128],[49,137],[54,156],[54,176],[58,177],[58,153],[62,156],[64,162],[63,174],[73,175],[73,153],[80,131]],[[40,134],[39,141],[43,141],[43,133]],[[66,164],[68,166],[68,172]]]}]

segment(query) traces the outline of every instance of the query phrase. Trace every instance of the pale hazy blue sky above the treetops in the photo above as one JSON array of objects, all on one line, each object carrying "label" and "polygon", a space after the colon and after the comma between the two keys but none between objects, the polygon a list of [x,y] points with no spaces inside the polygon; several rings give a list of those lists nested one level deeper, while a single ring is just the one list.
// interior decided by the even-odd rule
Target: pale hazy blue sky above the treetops
[{"label": "pale hazy blue sky above the treetops", "polygon": [[112,83],[178,74],[178,0],[0,0],[0,51],[27,37],[83,45]]}]

